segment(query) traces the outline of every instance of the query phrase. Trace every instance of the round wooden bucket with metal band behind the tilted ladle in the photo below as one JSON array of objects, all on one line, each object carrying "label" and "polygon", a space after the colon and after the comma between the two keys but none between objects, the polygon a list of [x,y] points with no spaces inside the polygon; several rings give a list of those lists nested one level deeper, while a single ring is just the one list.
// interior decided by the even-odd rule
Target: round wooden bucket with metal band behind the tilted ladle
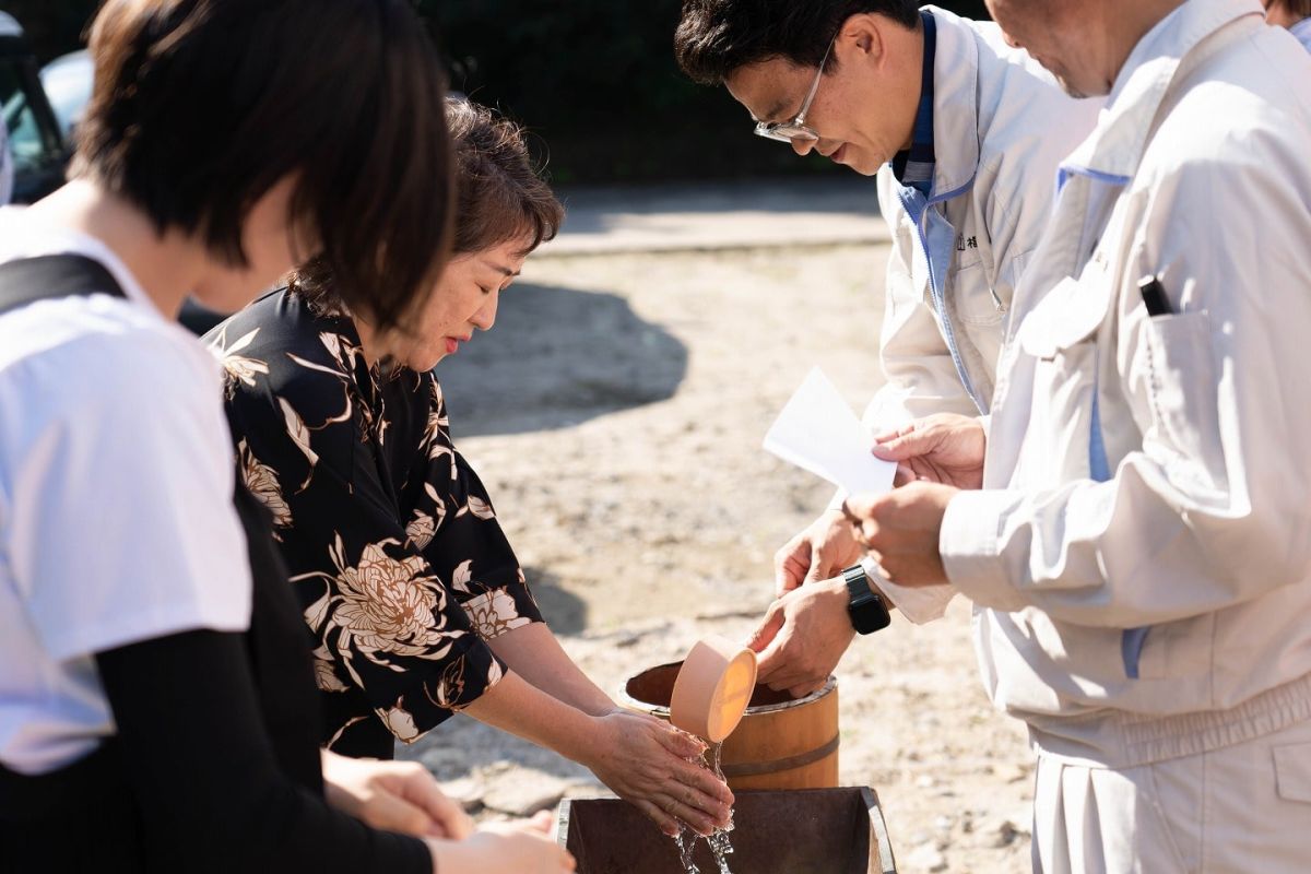
[{"label": "round wooden bucket with metal band behind the tilted ladle", "polygon": [[[669,701],[682,662],[661,664],[629,679],[620,702],[669,719]],[[793,698],[756,685],[746,714],[724,742],[720,764],[738,789],[829,789],[838,785],[838,681]]]}]

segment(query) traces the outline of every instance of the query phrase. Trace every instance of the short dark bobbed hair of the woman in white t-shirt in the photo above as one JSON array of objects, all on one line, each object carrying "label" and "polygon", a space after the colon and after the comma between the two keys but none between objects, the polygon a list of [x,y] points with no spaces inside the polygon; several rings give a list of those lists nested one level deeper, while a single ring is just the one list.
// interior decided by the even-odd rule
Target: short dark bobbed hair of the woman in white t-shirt
[{"label": "short dark bobbed hair of the woman in white t-shirt", "polygon": [[[288,223],[380,328],[417,311],[448,248],[446,77],[409,0],[108,0],[71,176],[245,265],[279,180]],[[298,235],[300,236],[300,235]]]}]

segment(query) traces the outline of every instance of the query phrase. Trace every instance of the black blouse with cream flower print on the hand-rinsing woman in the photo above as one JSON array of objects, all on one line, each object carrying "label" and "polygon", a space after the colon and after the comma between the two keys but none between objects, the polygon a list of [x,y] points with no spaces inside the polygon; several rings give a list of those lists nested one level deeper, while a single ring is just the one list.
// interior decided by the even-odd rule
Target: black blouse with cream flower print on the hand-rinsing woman
[{"label": "black blouse with cream flower print on the hand-rinsing woman", "polygon": [[286,291],[206,339],[313,636],[324,743],[389,757],[392,735],[417,739],[501,679],[486,641],[541,621],[523,571],[433,373],[371,368],[350,318]]}]

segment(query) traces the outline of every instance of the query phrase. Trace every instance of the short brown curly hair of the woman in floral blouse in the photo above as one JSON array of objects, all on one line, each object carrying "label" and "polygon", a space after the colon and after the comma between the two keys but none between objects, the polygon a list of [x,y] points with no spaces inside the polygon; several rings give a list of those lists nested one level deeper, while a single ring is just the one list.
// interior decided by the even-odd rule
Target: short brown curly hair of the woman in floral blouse
[{"label": "short brown curly hair of the woman in floral blouse", "polygon": [[[555,238],[564,207],[541,178],[523,128],[485,106],[446,101],[456,191],[452,252],[482,252],[527,237],[524,254]],[[291,275],[290,288],[316,312],[341,314],[350,301],[338,294],[332,266],[315,258]]]}]

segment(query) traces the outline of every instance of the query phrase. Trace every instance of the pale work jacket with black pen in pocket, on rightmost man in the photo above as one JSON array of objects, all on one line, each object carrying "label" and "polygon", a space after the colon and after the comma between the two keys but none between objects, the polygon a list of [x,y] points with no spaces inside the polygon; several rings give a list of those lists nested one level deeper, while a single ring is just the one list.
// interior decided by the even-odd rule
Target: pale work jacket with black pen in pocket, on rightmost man
[{"label": "pale work jacket with black pen in pocket, on rightmost man", "polygon": [[1311,718],[1311,56],[1260,13],[1189,0],[1126,60],[944,519],[992,700],[1071,760]]}]

